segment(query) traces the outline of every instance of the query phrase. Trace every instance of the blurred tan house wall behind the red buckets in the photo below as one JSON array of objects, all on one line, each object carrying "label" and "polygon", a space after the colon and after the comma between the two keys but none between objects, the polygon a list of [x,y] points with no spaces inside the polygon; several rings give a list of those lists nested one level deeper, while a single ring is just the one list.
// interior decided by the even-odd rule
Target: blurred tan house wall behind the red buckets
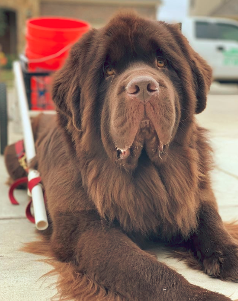
[{"label": "blurred tan house wall behind the red buckets", "polygon": [[0,8],[16,12],[17,50],[25,46],[25,22],[29,17],[61,15],[86,20],[95,27],[104,25],[120,8],[135,9],[155,19],[160,0],[0,0]]}]

